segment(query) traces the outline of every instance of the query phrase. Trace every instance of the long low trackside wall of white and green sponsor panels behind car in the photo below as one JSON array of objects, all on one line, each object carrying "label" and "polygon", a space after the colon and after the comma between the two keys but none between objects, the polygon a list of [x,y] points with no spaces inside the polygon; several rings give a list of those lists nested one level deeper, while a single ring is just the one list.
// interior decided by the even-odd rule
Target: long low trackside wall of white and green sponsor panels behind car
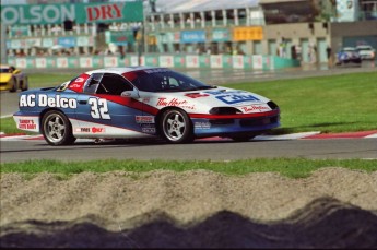
[{"label": "long low trackside wall of white and green sponsor panels behind car", "polygon": [[[139,60],[140,59],[140,60]],[[57,57],[9,57],[8,63],[20,69],[54,68],[110,68],[127,66],[151,66],[166,68],[250,69],[279,70],[299,67],[299,61],[276,56],[229,55],[127,55],[119,56],[57,56]]]}]

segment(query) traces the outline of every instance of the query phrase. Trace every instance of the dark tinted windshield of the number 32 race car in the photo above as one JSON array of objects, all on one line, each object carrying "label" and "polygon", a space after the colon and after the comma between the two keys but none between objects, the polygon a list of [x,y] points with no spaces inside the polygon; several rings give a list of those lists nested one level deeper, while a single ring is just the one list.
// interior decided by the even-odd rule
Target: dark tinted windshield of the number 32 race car
[{"label": "dark tinted windshield of the number 32 race car", "polygon": [[[215,86],[207,85],[186,74],[168,69],[150,69],[132,73],[136,73],[136,78],[128,79],[139,91],[144,92],[188,92],[215,88]],[[125,76],[127,78],[127,74]]]}]

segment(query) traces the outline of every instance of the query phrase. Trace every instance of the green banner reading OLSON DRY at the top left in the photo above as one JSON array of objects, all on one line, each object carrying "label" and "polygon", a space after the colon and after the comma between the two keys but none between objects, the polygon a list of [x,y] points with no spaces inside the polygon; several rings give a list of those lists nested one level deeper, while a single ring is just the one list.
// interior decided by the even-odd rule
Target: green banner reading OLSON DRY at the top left
[{"label": "green banner reading OLSON DRY at the top left", "polygon": [[143,2],[1,4],[1,22],[13,24],[78,24],[142,22]]}]

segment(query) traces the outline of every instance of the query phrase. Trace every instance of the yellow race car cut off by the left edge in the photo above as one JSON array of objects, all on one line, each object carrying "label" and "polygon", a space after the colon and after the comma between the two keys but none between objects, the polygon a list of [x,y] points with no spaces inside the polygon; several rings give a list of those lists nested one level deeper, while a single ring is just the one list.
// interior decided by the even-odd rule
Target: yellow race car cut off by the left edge
[{"label": "yellow race car cut off by the left edge", "polygon": [[21,70],[15,69],[12,66],[0,66],[0,91],[16,92],[27,91],[28,79],[27,75]]}]

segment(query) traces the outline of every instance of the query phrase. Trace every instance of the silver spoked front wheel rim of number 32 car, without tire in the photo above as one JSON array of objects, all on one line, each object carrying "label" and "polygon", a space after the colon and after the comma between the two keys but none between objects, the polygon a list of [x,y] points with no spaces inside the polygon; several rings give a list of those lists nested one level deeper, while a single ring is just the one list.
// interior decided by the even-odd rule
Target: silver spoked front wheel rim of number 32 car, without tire
[{"label": "silver spoked front wheel rim of number 32 car, without tire", "polygon": [[181,114],[172,111],[164,120],[164,133],[172,141],[180,140],[186,131],[186,121]]}]

